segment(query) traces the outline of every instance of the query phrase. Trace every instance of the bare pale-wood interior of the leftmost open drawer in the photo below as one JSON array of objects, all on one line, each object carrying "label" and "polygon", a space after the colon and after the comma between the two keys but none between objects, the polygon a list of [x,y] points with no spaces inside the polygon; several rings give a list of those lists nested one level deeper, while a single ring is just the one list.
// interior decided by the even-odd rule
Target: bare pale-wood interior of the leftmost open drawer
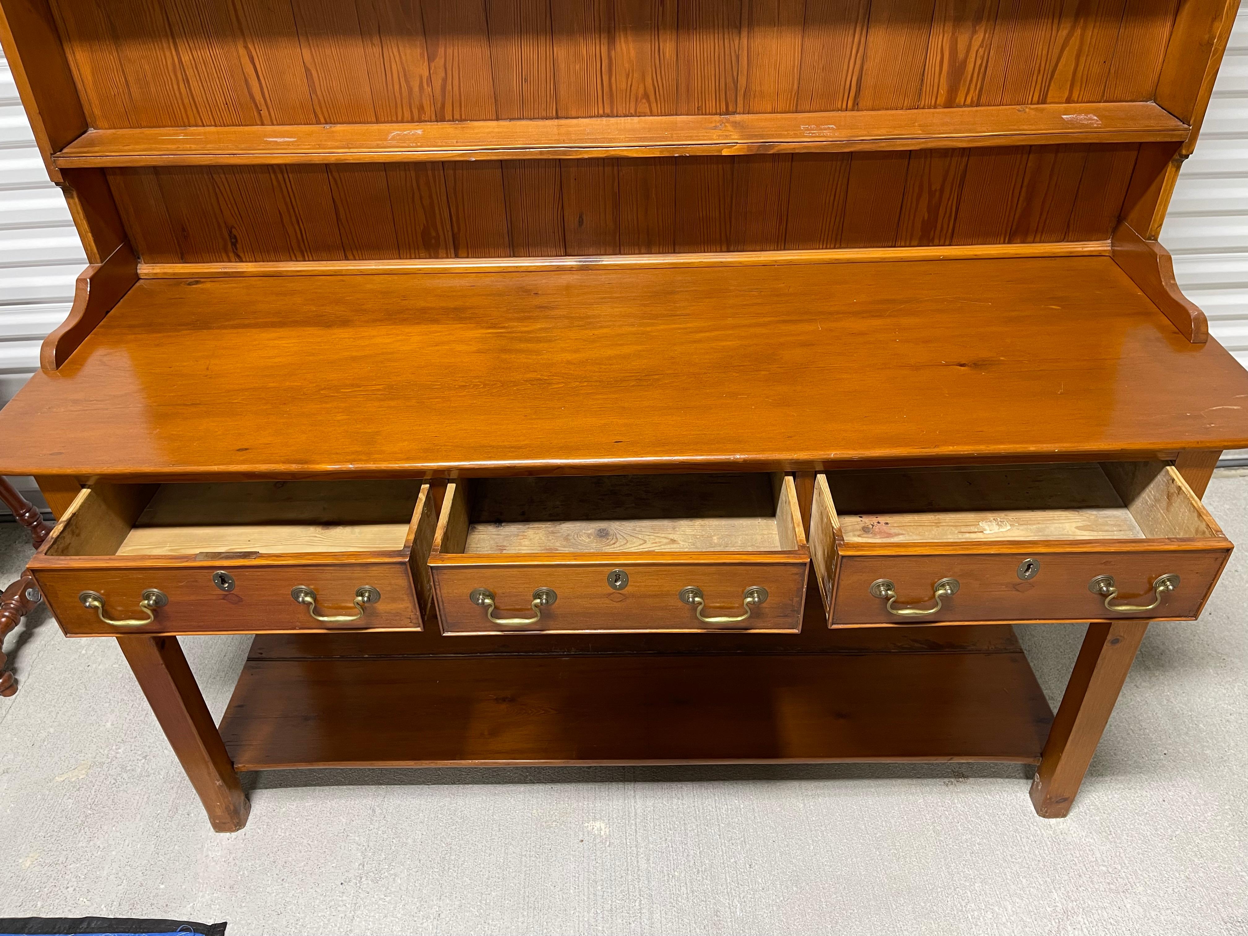
[{"label": "bare pale-wood interior of the leftmost open drawer", "polygon": [[403,549],[419,480],[101,485],[47,555],[263,555]]}]

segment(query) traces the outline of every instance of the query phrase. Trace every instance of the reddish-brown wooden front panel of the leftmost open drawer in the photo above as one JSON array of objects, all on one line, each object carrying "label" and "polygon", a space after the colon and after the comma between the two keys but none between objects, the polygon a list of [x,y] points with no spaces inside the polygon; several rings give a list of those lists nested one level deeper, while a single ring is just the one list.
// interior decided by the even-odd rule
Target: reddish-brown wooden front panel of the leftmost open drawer
[{"label": "reddish-brown wooden front panel of the leftmost open drawer", "polygon": [[[230,592],[213,583],[213,573],[233,579]],[[419,630],[421,612],[406,560],[307,564],[182,564],[147,568],[39,568],[35,580],[49,607],[70,635],[119,634],[258,634],[298,630]],[[291,590],[305,585],[316,593],[321,615],[354,615],[357,589],[371,587],[378,600],[364,604],[349,622],[316,620]],[[155,620],[140,626],[111,625],[79,595],[104,598],[111,619],[141,620],[142,594],[157,589],[167,604],[154,608]]]}]

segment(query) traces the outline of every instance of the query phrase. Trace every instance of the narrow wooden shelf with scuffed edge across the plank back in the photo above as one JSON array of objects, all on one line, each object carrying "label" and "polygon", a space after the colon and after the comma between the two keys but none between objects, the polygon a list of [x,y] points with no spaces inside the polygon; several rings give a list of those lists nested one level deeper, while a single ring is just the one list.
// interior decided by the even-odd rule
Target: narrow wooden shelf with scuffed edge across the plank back
[{"label": "narrow wooden shelf with scuffed edge across the plank back", "polygon": [[741,156],[1186,140],[1152,102],[730,116],[91,130],[54,156],[84,166],[280,165],[589,156]]}]

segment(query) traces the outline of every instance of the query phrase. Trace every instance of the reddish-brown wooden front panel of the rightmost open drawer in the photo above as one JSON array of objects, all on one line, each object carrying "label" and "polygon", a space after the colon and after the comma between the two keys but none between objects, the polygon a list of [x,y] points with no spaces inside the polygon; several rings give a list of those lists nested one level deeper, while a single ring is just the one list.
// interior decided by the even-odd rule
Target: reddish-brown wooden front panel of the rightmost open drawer
[{"label": "reddish-brown wooden front panel of the rightmost open drawer", "polygon": [[[1229,549],[1114,553],[995,553],[938,555],[841,555],[835,582],[820,585],[832,595],[830,623],[937,624],[961,622],[1148,620],[1192,619],[1201,613],[1218,580]],[[1038,563],[1035,577],[1022,580],[1020,565]],[[1112,575],[1118,595],[1111,605],[1147,605],[1161,575],[1179,577],[1178,587],[1161,597],[1151,610],[1112,612],[1106,597],[1088,590],[1092,579]],[[941,609],[922,615],[889,613],[886,598],[871,593],[881,579],[895,585],[895,608],[929,610],[936,607],[935,585],[958,582],[955,594],[941,599]]]}]

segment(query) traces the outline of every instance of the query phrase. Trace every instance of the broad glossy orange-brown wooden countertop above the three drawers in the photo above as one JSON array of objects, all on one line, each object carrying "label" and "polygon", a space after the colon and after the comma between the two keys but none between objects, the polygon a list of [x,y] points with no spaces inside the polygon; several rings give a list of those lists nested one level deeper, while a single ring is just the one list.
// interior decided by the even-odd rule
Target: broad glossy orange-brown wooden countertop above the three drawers
[{"label": "broad glossy orange-brown wooden countertop above the three drawers", "polygon": [[1248,447],[1246,401],[1108,257],[141,281],[0,473],[1154,454]]}]

